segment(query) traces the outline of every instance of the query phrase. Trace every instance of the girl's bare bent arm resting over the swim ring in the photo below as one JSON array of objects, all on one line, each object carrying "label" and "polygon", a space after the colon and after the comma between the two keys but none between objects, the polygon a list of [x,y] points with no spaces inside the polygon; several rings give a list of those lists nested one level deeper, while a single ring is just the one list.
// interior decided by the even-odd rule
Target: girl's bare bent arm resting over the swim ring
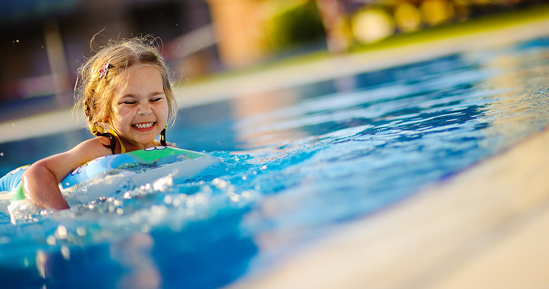
[{"label": "girl's bare bent arm resting over the swim ring", "polygon": [[101,144],[100,138],[93,138],[81,142],[70,151],[35,162],[23,174],[25,196],[39,207],[68,209],[68,204],[59,190],[61,180],[89,160],[110,153],[110,149]]}]

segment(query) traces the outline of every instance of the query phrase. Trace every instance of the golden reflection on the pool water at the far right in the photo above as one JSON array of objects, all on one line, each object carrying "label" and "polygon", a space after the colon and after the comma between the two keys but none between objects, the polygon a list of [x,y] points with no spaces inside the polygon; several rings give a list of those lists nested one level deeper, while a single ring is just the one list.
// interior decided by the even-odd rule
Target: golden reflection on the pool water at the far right
[{"label": "golden reflection on the pool water at the far right", "polygon": [[[549,79],[549,39],[537,39],[522,44],[520,50],[501,53],[470,53],[468,59],[479,62],[483,69],[497,71],[485,80],[488,89],[501,91],[497,99],[485,106],[485,117],[490,127],[485,133],[488,140],[508,143],[528,136],[529,130],[546,127]],[[521,53],[519,53],[519,51]],[[525,53],[528,52],[528,53]],[[485,145],[494,145],[487,142]]]}]

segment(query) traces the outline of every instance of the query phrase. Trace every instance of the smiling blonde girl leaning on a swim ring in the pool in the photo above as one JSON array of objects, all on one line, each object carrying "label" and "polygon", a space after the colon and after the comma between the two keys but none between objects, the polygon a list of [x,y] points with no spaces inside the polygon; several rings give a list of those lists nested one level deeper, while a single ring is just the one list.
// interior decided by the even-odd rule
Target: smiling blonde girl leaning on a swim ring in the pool
[{"label": "smiling blonde girl leaning on a swim ring in the pool", "polygon": [[[26,169],[23,192],[39,207],[68,209],[59,182],[84,163],[115,153],[166,145],[168,120],[176,112],[168,69],[146,39],[110,44],[79,69],[77,106],[95,138]],[[170,144],[168,144],[170,145]]]}]

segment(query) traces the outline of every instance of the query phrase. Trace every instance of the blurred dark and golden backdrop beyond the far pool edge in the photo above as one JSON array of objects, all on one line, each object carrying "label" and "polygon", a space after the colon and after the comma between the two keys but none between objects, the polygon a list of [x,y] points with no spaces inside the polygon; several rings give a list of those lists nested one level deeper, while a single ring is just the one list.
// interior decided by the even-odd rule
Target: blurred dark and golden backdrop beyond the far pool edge
[{"label": "blurred dark and golden backdrop beyond the far pool edge", "polygon": [[296,55],[353,53],[543,2],[1,0],[0,122],[72,106],[77,68],[108,39],[160,37],[174,80],[187,82]]}]

